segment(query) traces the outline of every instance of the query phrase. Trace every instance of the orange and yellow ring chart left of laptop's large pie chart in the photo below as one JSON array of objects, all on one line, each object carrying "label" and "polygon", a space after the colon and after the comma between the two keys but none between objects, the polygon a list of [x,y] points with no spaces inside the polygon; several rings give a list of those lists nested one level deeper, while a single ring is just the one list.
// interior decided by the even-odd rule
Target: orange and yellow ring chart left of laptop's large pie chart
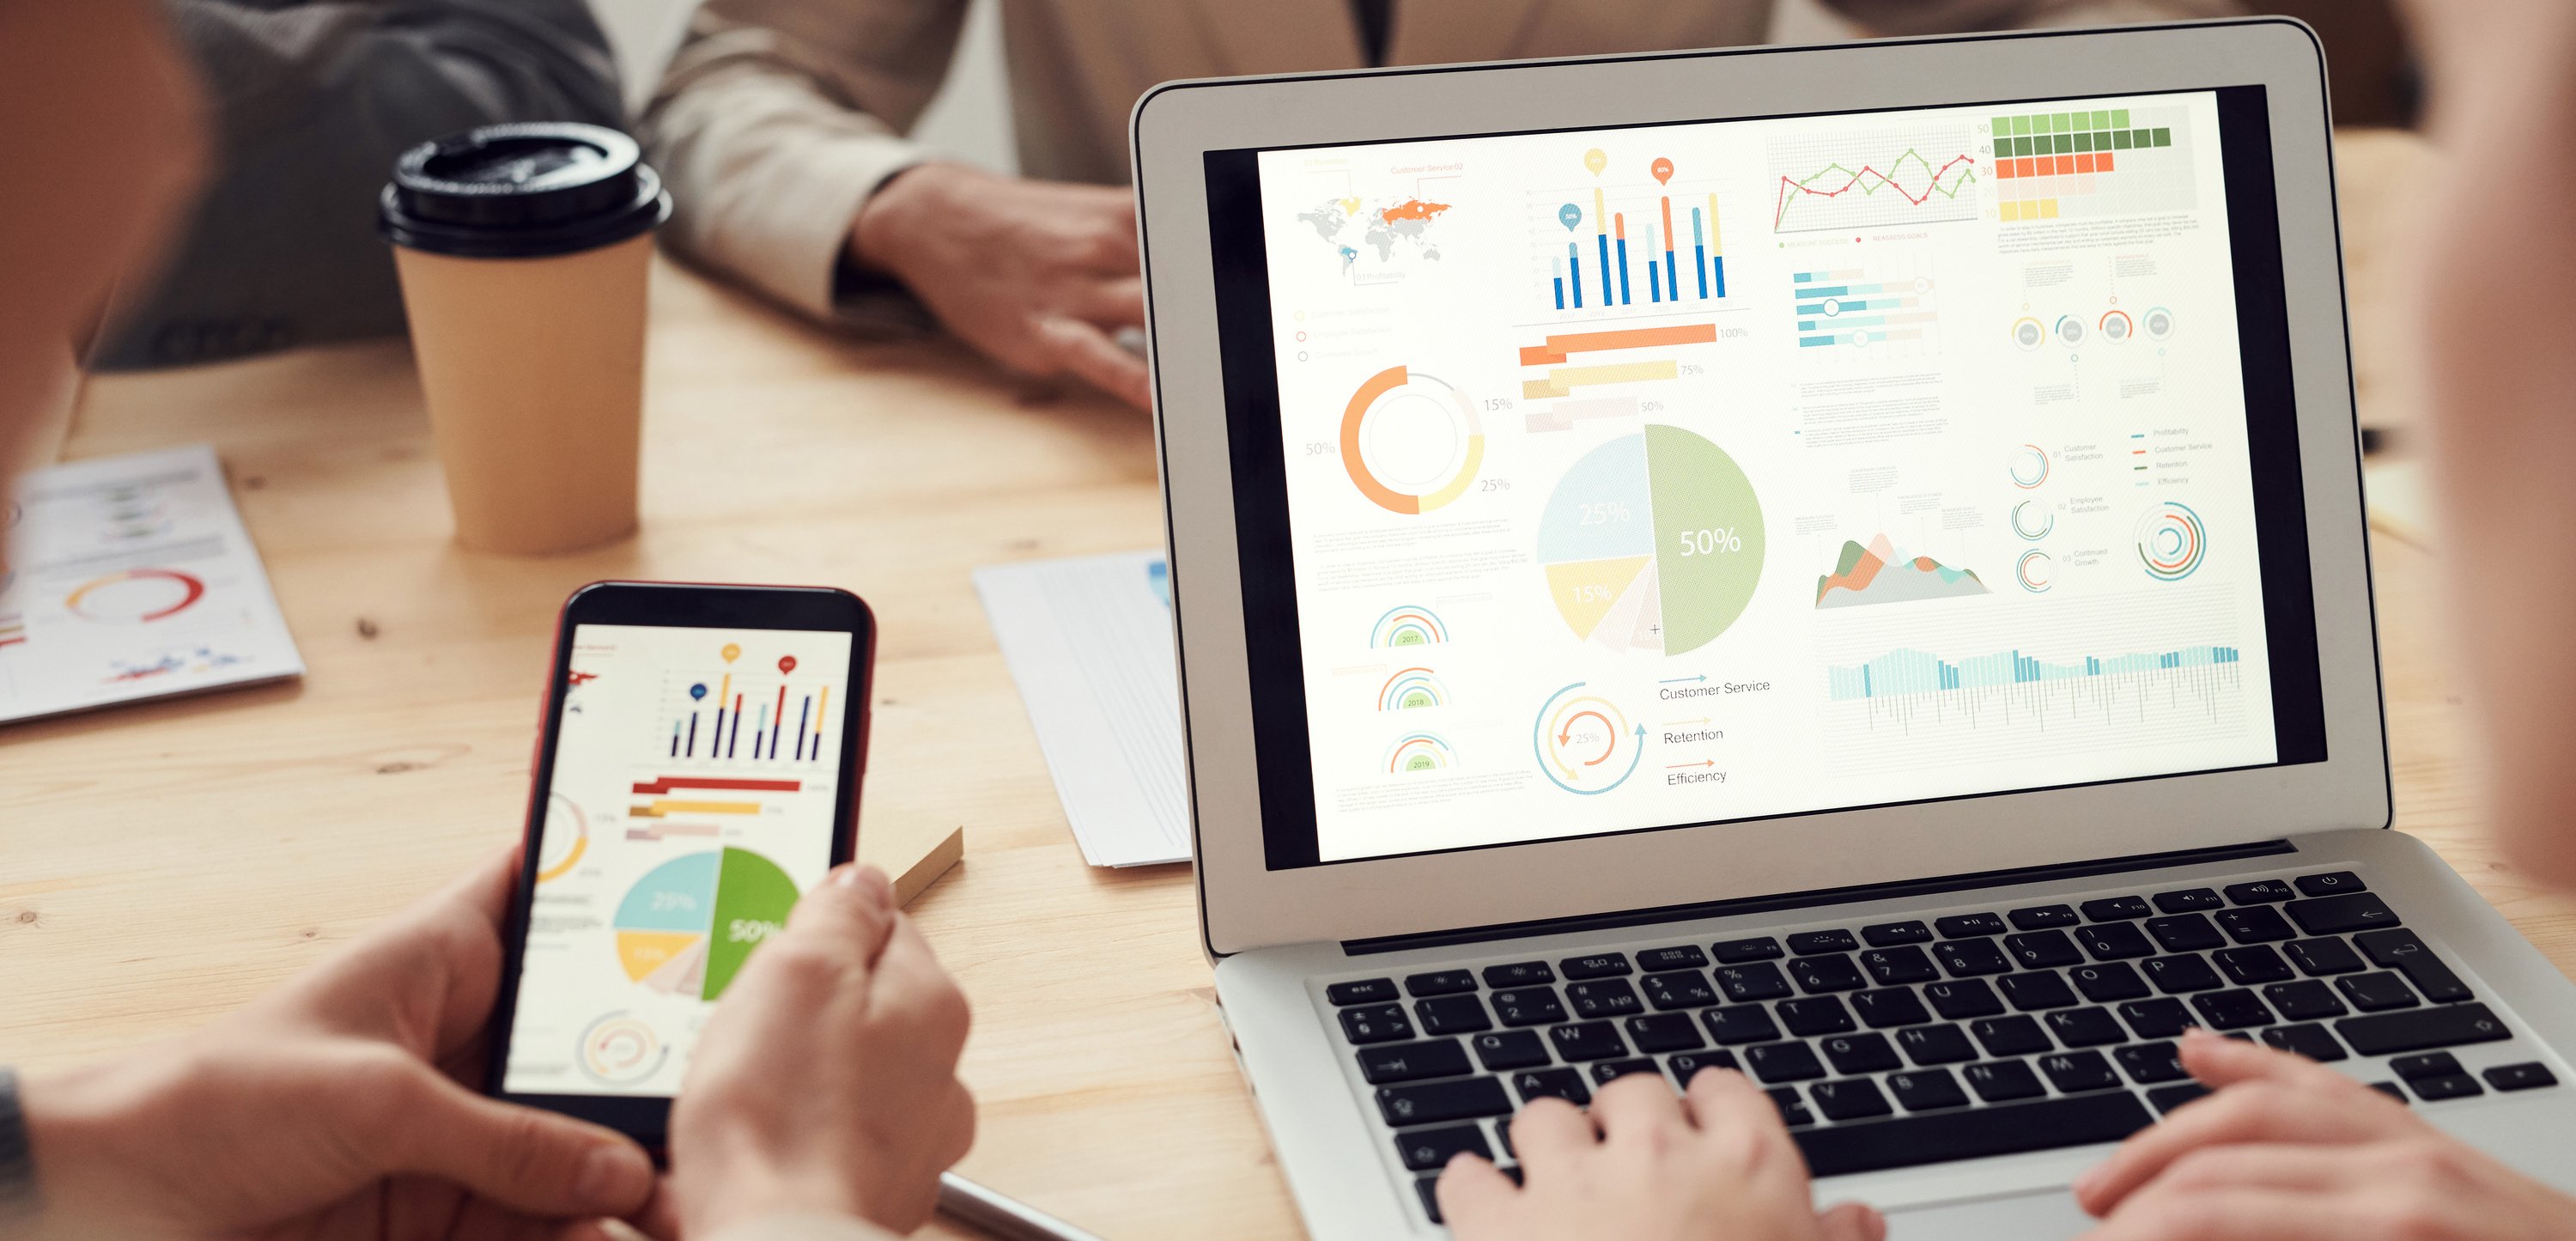
[{"label": "orange and yellow ring chart left of laptop's large pie chart", "polygon": [[1378,371],[1342,409],[1342,469],[1388,512],[1430,512],[1463,497],[1479,466],[1476,402],[1422,371]]}]

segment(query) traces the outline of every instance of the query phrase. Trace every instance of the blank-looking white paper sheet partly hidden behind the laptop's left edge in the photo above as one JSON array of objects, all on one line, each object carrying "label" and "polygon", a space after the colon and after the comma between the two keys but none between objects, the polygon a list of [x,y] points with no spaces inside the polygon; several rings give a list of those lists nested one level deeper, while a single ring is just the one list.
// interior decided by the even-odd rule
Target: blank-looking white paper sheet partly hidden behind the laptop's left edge
[{"label": "blank-looking white paper sheet partly hidden behind the laptop's left edge", "polygon": [[1157,551],[976,569],[1082,860],[1190,860],[1172,577]]}]

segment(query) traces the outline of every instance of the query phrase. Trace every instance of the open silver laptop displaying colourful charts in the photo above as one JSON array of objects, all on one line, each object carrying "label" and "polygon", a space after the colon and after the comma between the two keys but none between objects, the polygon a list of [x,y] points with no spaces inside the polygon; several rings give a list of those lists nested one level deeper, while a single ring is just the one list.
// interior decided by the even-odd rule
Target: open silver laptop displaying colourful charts
[{"label": "open silver laptop displaying colourful charts", "polygon": [[1741,1068],[2074,1236],[2202,1025],[2553,1184],[2576,989],[2388,832],[2290,21],[1175,82],[1133,116],[1198,896],[1314,1236]]}]

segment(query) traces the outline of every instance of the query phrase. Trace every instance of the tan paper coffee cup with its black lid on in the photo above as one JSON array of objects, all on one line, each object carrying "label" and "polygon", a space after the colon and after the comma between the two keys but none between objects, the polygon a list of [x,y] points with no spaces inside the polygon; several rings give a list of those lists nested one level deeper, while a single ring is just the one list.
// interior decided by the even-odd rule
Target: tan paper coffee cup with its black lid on
[{"label": "tan paper coffee cup with its black lid on", "polygon": [[670,216],[634,139],[482,126],[402,152],[376,206],[456,541],[544,556],[634,533],[644,281]]}]

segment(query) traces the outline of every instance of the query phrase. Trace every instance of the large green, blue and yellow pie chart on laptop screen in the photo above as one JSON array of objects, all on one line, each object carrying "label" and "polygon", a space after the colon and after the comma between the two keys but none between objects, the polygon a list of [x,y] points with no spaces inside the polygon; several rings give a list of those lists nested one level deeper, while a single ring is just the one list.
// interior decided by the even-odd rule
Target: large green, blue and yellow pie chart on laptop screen
[{"label": "large green, blue and yellow pie chart on laptop screen", "polygon": [[1538,564],[1577,639],[1695,651],[1762,582],[1762,505],[1723,448],[1649,425],[1566,469],[1538,518]]}]

